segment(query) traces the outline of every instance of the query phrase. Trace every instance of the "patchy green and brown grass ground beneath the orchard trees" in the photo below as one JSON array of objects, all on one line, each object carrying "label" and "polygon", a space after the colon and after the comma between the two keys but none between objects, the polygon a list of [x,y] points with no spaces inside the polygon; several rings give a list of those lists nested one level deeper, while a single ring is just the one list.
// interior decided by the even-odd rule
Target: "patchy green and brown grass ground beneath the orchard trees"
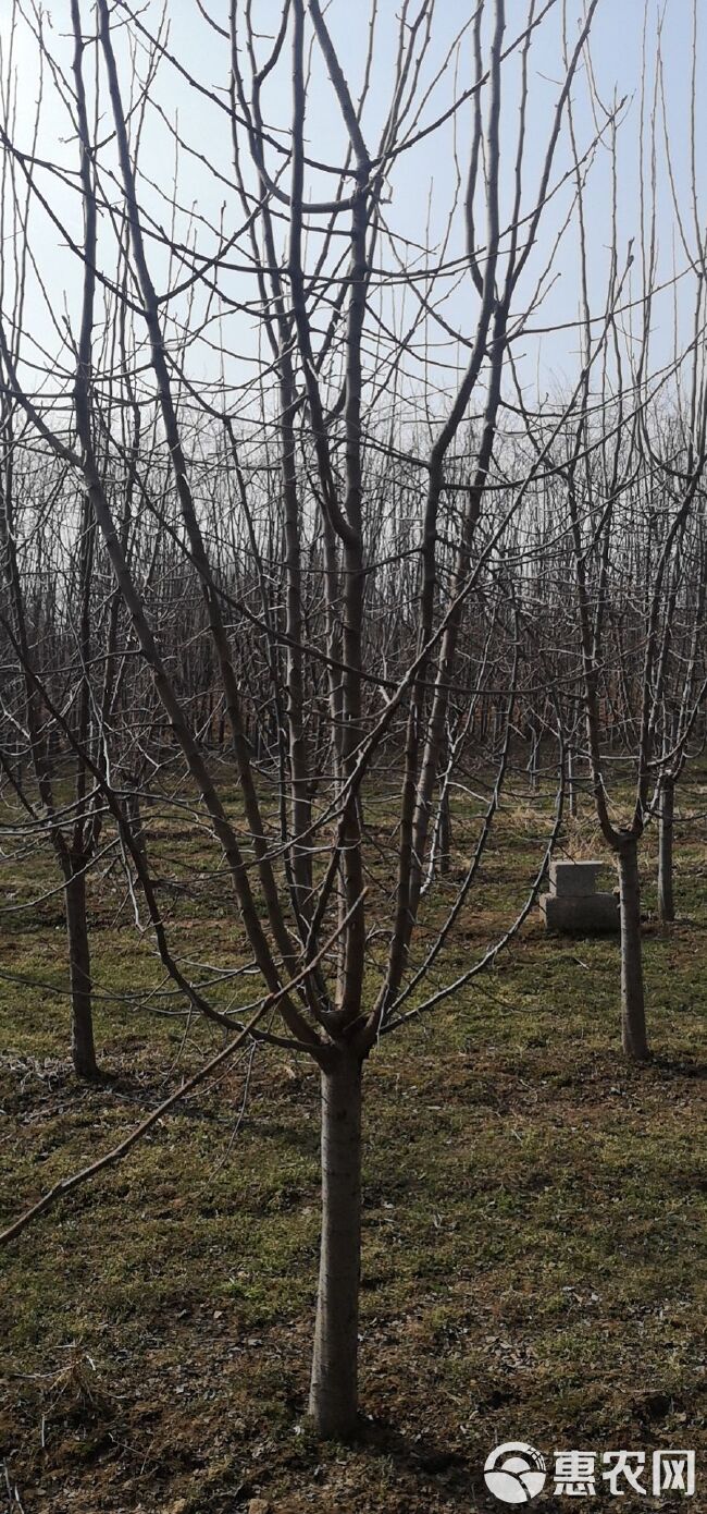
[{"label": "patchy green and brown grass ground beneath the orchard trees", "polygon": [[[705,792],[683,802],[704,810]],[[509,802],[450,972],[515,910],[533,810]],[[196,877],[198,834],[159,830],[154,845]],[[595,849],[589,824],[574,845]],[[357,1444],[317,1444],[304,1419],[317,1075],[267,1051],[245,1113],[243,1060],[5,1252],[0,1500],[14,1514],[470,1514],[502,1508],[480,1469],[505,1440],[704,1453],[704,822],[677,857],[680,919],[659,928],[647,845],[651,1066],[621,1060],[616,942],[547,940],[535,913],[489,975],[370,1058]],[[44,857],[8,868],[6,898],[51,880]],[[224,890],[215,904],[195,886],[175,908],[193,955],[219,963],[234,930]],[[92,917],[100,995],[153,984],[115,880],[92,881]],[[65,984],[63,951],[60,896],[6,916],[0,969],[36,984],[0,980],[8,1219],[218,1045],[98,996],[110,1081],[77,1087],[65,1001],[47,987]],[[624,1499],[641,1503],[683,1506]],[[707,1509],[699,1449],[690,1506]]]}]

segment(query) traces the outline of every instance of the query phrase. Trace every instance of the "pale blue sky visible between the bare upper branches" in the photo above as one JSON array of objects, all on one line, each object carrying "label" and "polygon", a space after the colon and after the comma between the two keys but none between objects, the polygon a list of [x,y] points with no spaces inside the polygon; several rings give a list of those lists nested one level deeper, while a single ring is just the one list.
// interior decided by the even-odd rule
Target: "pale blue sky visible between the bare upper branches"
[{"label": "pale blue sky visible between the bare upper branches", "polygon": [[[530,0],[508,0],[506,6],[506,42],[511,41],[527,24]],[[29,0],[21,0],[21,9],[32,15]],[[147,5],[131,6],[148,32],[157,29],[160,6],[156,0]],[[491,8],[489,8],[491,9]],[[539,9],[539,6],[538,6]],[[567,36],[570,45],[577,35],[582,18],[582,0],[567,3]],[[204,20],[204,11],[219,26],[227,26],[228,5],[225,0],[168,0],[166,14],[169,18],[168,48],[183,62],[184,68],[193,74],[195,80],[211,91],[216,98],[227,100],[228,88],[228,41],[218,35]],[[82,14],[86,30],[91,29],[92,6],[89,0],[82,0]],[[409,6],[414,17],[417,6]],[[272,36],[279,21],[281,8],[275,0],[254,0],[254,15],[261,33],[260,48],[267,47],[267,36]],[[375,45],[372,55],[370,88],[363,115],[363,132],[369,150],[375,151],[381,133],[381,124],[390,101],[394,82],[394,56],[397,17],[400,0],[379,0]],[[11,42],[12,0],[0,0],[0,38],[5,65]],[[145,76],[145,51],[137,44],[130,56],[128,32],[122,24],[125,9],[122,0],[113,8],[115,47],[118,53],[121,88],[124,98],[139,95],[139,80]],[[429,56],[421,68],[418,94],[425,94],[432,85],[429,100],[423,106],[420,126],[432,121],[449,107],[455,92],[461,92],[471,82],[471,44],[470,29],[462,38],[458,53],[441,77],[434,85],[434,77],[440,70],[455,35],[465,21],[470,21],[473,6],[461,0],[437,0],[434,15],[432,42]],[[358,92],[366,65],[369,24],[367,6],[352,3],[352,0],[332,0],[326,11],[326,20],[344,64],[354,94]],[[642,115],[642,47],[644,27],[647,33],[648,58],[648,103],[644,103],[644,115],[648,117],[651,103],[651,77],[654,71],[657,26],[662,26],[662,56],[663,85],[666,100],[666,117],[669,123],[671,168],[683,213],[683,227],[687,241],[693,247],[692,206],[690,206],[690,70],[693,58],[692,44],[692,0],[663,0],[660,6],[653,0],[600,0],[598,12],[592,26],[592,71],[598,98],[610,106],[612,101],[624,98],[625,103],[619,115],[618,130],[618,257],[624,266],[628,247],[633,239],[634,262],[627,277],[625,292],[633,298],[641,297],[641,194],[647,191],[647,164],[644,154],[644,170],[641,165],[641,115]],[[69,30],[69,0],[50,0],[44,15],[44,36],[51,59],[66,74],[71,65]],[[704,30],[704,27],[702,27]],[[136,33],[131,27],[133,36]],[[701,77],[704,79],[704,38],[701,39]],[[23,150],[30,147],[35,104],[38,98],[41,68],[36,41],[32,27],[20,17],[14,38],[14,58],[17,65],[17,120],[15,142]],[[329,88],[322,59],[316,50],[311,55],[311,77],[307,101],[307,142],[308,151],[317,160],[338,165],[344,151],[344,130]],[[92,71],[95,53],[86,53],[86,77],[92,92]],[[243,65],[245,65],[243,58]],[[535,203],[535,191],[539,182],[545,144],[551,121],[551,112],[562,82],[562,0],[556,0],[548,17],[536,29],[529,64],[529,118],[527,144],[524,159],[524,198],[523,209],[527,213]],[[518,126],[518,62],[517,56],[505,64],[503,109],[502,109],[502,200],[508,212],[514,192],[514,157]],[[66,170],[68,185],[57,180],[47,171],[38,171],[36,182],[42,194],[51,204],[56,217],[68,230],[69,236],[80,239],[82,212],[79,195],[71,188],[71,176],[76,179],[77,151],[76,138],[65,101],[62,100],[63,85],[59,76],[51,76],[51,68],[44,67],[42,77],[42,109],[38,153],[53,164]],[[701,91],[704,97],[704,89]],[[272,135],[282,142],[287,141],[287,123],[290,109],[290,59],[287,48],[282,53],[278,68],[272,73],[264,91],[264,115]],[[698,92],[696,106],[696,139],[707,141],[707,123],[704,120],[704,103]],[[165,118],[177,123],[178,132],[189,150],[180,151],[175,167],[175,145]],[[136,120],[136,117],[133,118]],[[582,70],[577,76],[576,132],[580,153],[583,153],[597,130],[595,112],[591,106],[586,74]],[[104,185],[107,197],[119,210],[119,185],[110,174],[115,174],[115,151],[110,141],[110,118],[107,95],[101,83],[100,92],[100,136],[101,165],[106,174]],[[444,247],[446,257],[459,257],[464,251],[464,224],[461,207],[449,230],[444,244],[447,217],[456,192],[456,173],[465,173],[470,139],[470,106],[461,109],[453,123],[447,123],[434,132],[417,147],[403,153],[391,168],[387,183],[384,204],[385,221],[393,233],[393,244],[381,244],[379,256],[391,273],[397,266],[397,259],[409,268],[420,269],[423,263],[434,262],[440,248]],[[607,274],[610,266],[610,206],[612,206],[612,173],[609,153],[609,133],[595,148],[585,189],[585,217],[589,247],[589,294],[592,313],[600,319],[606,303]],[[699,156],[699,154],[698,154]],[[677,268],[686,266],[686,253],[680,241],[680,229],[672,203],[669,186],[668,159],[663,144],[663,130],[659,127],[657,142],[657,269],[656,282],[668,280]],[[180,210],[175,213],[174,226],[180,239],[193,238],[195,245],[204,256],[211,256],[218,247],[218,227],[222,226],[225,235],[236,232],[243,223],[243,210],[233,186],[233,157],[228,127],[228,115],[218,103],[213,103],[204,92],[193,88],[183,74],[163,59],[156,79],[150,86],[150,104],[145,111],[145,121],[140,139],[140,198],[148,213],[159,226],[169,226],[172,215],[169,198],[172,183],[177,182],[177,197]],[[270,168],[278,157],[270,154]],[[570,168],[567,141],[556,156],[551,183],[557,185]],[[216,174],[211,173],[216,170]],[[704,224],[704,207],[707,204],[705,170],[698,165],[698,215]],[[251,183],[252,174],[251,174]],[[326,174],[310,173],[305,194],[310,198],[331,194],[335,180]],[[8,197],[6,189],[6,197]],[[538,236],[538,245],[529,263],[529,277],[518,289],[518,309],[530,298],[535,283],[545,268],[554,238],[567,218],[571,204],[571,186],[565,183],[553,195],[548,204]],[[479,217],[483,220],[483,206],[479,203]],[[313,218],[314,220],[314,218]],[[319,218],[320,220],[320,218]],[[112,233],[106,226],[101,232],[106,256],[106,266],[113,257]],[[317,232],[310,236],[310,256],[317,241]],[[29,285],[32,300],[27,300],[27,330],[38,362],[41,351],[47,351],[50,359],[69,368],[69,348],[65,345],[65,322],[76,330],[80,301],[80,266],[74,253],[65,245],[65,238],[57,232],[51,218],[35,203],[32,209],[32,250],[36,271],[30,271]],[[394,254],[393,254],[394,247]],[[12,227],[5,223],[3,257],[6,262],[6,291],[12,288],[11,251],[14,248]],[[163,294],[169,294],[171,285],[183,277],[184,269],[174,260],[169,263],[166,254],[157,245],[151,245],[151,268],[154,282]],[[261,332],[252,313],[236,310],[233,306],[246,306],[254,295],[254,280],[249,273],[224,269],[221,288],[233,304],[224,306],[219,327],[208,327],[208,339],[196,341],[187,356],[189,372],[196,383],[208,383],[216,378],[218,357],[215,348],[219,342],[230,354],[227,357],[228,380],[234,391],[246,385],[255,372],[258,353],[261,351]],[[547,279],[548,292],[542,307],[532,316],[529,326],[535,335],[529,335],[517,347],[523,383],[538,392],[550,389],[567,389],[573,385],[580,348],[579,332],[579,247],[576,230],[571,226],[554,256],[553,273]],[[467,276],[455,271],[446,282],[438,282],[431,297],[443,298],[443,313],[446,322],[465,338],[473,336],[477,315],[477,297]],[[6,292],[8,300],[8,292]],[[672,289],[657,295],[653,304],[653,360],[660,365],[669,360],[674,345],[674,324],[677,319],[680,342],[686,342],[690,332],[693,303],[693,280],[690,277],[678,282],[677,316]],[[166,303],[175,315],[177,326],[184,319],[184,306]],[[397,283],[394,294],[387,295],[382,306],[385,318],[399,330],[406,330],[417,309],[414,297],[402,291]],[[196,312],[192,312],[195,316]],[[201,310],[201,313],[205,313]],[[211,309],[213,316],[213,309]],[[636,344],[636,333],[631,319],[639,326],[638,318],[625,315],[624,338],[627,347]],[[551,327],[553,330],[547,330]],[[539,333],[542,329],[542,333]],[[421,351],[420,339],[426,336],[426,354]],[[63,347],[63,353],[62,353]],[[30,348],[26,345],[26,354]],[[453,385],[456,371],[464,362],[464,344],[455,342],[440,326],[426,324],[415,333],[411,344],[408,374],[415,385],[417,375],[423,372],[434,375],[434,383],[444,389]],[[428,366],[425,366],[425,360]],[[56,378],[54,369],[54,378]]]}]

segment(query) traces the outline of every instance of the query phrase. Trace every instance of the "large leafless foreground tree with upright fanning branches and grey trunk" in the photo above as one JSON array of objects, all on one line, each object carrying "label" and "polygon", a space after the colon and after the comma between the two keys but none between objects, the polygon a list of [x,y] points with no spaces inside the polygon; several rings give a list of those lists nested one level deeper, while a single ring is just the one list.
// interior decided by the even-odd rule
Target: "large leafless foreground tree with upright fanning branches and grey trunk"
[{"label": "large leafless foreground tree with upright fanning branches and grey trunk", "polygon": [[[527,173],[532,50],[551,5],[532,3],[512,30],[503,0],[480,3],[453,24],[447,17],[440,35],[431,0],[414,18],[403,6],[394,26],[387,23],[388,97],[372,118],[375,6],[357,91],[319,0],[286,3],[273,38],[257,33],[254,8],[233,3],[228,26],[205,23],[224,59],[227,91],[216,92],[171,50],[162,23],[150,29],[150,12],[128,0],[113,9],[97,0],[89,32],[89,8],[71,0],[71,71],[47,51],[44,33],[39,45],[79,144],[80,241],[51,204],[57,167],[47,170],[48,189],[39,189],[36,165],[5,130],[9,160],[30,197],[50,207],[82,274],[68,342],[68,419],[59,409],[68,385],[62,391],[56,380],[48,397],[33,391],[12,338],[24,322],[3,309],[8,403],[23,415],[26,445],[80,481],[86,525],[97,531],[130,622],[124,654],[137,650],[150,674],[151,730],[159,707],[162,755],[181,765],[180,798],[208,827],[233,886],[240,957],[257,967],[279,1016],[276,1026],[252,1025],[251,1034],[313,1057],[322,1075],[310,1410],[323,1434],[350,1432],[357,1416],[364,1063],[384,1034],[431,1013],[496,960],[536,899],[562,822],[567,689],[538,657],[535,637],[527,662],[544,687],[530,706],[527,678],[520,696],[529,624],[524,521],[547,475],[567,480],[571,539],[577,563],[585,562],[580,486],[595,488],[591,472],[580,477],[591,451],[588,375],[612,330],[621,276],[601,335],[588,339],[574,392],[536,428],[532,448],[505,428],[503,383],[514,344],[551,288],[565,229],[582,213],[592,142],[613,130],[618,114],[609,111],[585,145],[577,141],[570,101],[595,8],[592,0],[567,48],[544,151],[535,154],[536,182]],[[468,83],[458,92],[456,65],[468,70]],[[207,156],[201,141],[183,139],[160,117],[177,164],[193,157],[205,182],[227,186],[230,224],[240,218],[231,235],[222,217],[184,207],[178,173],[166,217],[156,209],[159,188],[140,154],[160,70],[196,91],[225,129],[228,173],[216,142]],[[269,123],[284,77],[292,107],[282,132]],[[320,97],[335,162],[311,145]],[[570,167],[567,151],[560,160],[568,123]],[[405,221],[396,223],[396,176],[431,136],[450,145],[456,179],[441,236],[415,241]],[[511,142],[503,153],[502,141]],[[557,195],[563,218],[553,223],[547,256],[538,235]],[[234,363],[236,310],[255,321],[258,341]],[[133,416],[131,436],[118,413]],[[573,445],[559,462],[567,438]],[[601,456],[618,489],[625,450],[616,447],[613,457],[606,441]],[[174,578],[169,590],[145,568],[145,542],[131,537],[128,488],[156,542],[151,560]],[[609,525],[592,547],[600,562]],[[598,653],[582,583],[579,598],[589,748],[603,802],[592,734]],[[656,603],[663,603],[660,586]],[[573,680],[574,698],[577,668]],[[136,693],[140,687],[137,680]],[[48,698],[41,686],[45,710]],[[539,710],[535,765],[541,733],[553,743],[556,812],[515,919],[450,981],[446,948],[473,908],[521,706],[533,721]],[[216,710],[224,739],[215,760]],[[477,718],[483,739],[474,742]],[[73,740],[110,812],[172,983],[190,1011],[233,1031],[239,1011],[219,1007],[172,949],[119,786],[85,733]],[[140,781],[151,754],[142,755]],[[452,845],[449,799],[456,784],[465,792],[470,769],[483,774],[486,802],[456,827],[462,866],[452,872],[441,864]],[[613,837],[609,816],[607,828]],[[628,851],[621,840],[621,857]],[[628,919],[628,886],[624,895]],[[245,970],[242,963],[234,978]]]}]

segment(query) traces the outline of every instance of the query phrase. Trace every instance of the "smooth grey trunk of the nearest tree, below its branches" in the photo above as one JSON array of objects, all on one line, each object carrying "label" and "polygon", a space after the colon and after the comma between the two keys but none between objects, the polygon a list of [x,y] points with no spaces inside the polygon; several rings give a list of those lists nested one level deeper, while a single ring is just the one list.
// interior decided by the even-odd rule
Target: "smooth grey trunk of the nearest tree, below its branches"
[{"label": "smooth grey trunk of the nearest tree, below its branches", "polygon": [[346,1438],[358,1413],[361,1270],[361,1061],[337,1052],[322,1072],[322,1246],[310,1414]]}]

